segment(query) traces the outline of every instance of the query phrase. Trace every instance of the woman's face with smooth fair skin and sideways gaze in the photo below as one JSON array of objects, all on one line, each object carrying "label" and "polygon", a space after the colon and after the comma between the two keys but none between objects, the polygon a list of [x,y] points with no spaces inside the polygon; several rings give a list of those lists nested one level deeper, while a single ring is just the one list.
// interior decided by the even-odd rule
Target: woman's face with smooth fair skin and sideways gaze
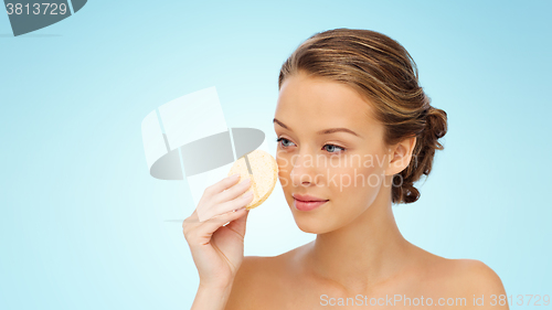
[{"label": "woman's face with smooth fair skin and sideways gaze", "polygon": [[[304,73],[287,77],[279,90],[274,129],[279,139],[278,178],[301,231],[321,234],[342,227],[385,190],[390,154],[383,126],[349,86]],[[327,202],[306,211],[295,201],[297,195]]]}]

